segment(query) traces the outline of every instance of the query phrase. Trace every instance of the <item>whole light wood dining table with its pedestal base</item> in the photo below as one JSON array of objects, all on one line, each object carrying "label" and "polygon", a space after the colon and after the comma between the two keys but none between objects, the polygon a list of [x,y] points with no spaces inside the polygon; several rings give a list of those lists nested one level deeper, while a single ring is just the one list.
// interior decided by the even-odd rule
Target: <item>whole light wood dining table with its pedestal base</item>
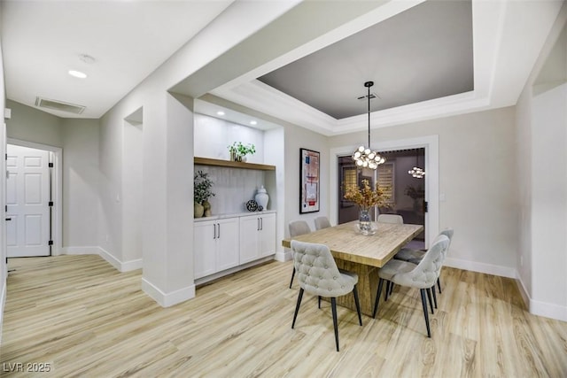
[{"label": "whole light wood dining table with its pedestal base", "polygon": [[[372,316],[378,285],[378,269],[384,266],[401,247],[423,231],[422,225],[377,223],[374,235],[361,235],[358,220],[322,228],[309,234],[283,239],[282,245],[291,248],[291,239],[320,243],[329,247],[339,269],[358,274],[361,312]],[[353,296],[337,298],[338,305],[356,309]]]}]

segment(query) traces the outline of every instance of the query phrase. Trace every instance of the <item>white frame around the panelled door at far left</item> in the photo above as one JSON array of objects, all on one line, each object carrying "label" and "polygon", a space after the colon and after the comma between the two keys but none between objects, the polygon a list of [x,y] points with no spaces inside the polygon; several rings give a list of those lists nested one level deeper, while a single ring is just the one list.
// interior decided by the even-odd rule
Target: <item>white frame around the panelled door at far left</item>
[{"label": "white frame around the panelled door at far left", "polygon": [[51,200],[54,202],[51,212],[51,256],[61,253],[63,245],[63,149],[50,146],[48,144],[33,143],[19,139],[6,138],[6,144],[14,144],[21,147],[28,147],[36,150],[47,150],[53,152],[53,171],[50,175]]}]

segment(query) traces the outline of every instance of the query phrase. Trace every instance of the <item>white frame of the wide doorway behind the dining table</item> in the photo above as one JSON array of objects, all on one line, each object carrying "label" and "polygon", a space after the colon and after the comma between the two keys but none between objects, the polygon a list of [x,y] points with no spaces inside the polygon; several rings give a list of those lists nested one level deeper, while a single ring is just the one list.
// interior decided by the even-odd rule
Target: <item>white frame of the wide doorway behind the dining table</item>
[{"label": "white frame of the wide doorway behind the dining table", "polygon": [[[398,139],[373,143],[374,150],[425,149],[425,201],[428,211],[425,213],[425,247],[439,234],[439,135],[418,136],[416,138]],[[330,220],[338,224],[338,157],[350,155],[357,145],[349,145],[330,149]]]}]

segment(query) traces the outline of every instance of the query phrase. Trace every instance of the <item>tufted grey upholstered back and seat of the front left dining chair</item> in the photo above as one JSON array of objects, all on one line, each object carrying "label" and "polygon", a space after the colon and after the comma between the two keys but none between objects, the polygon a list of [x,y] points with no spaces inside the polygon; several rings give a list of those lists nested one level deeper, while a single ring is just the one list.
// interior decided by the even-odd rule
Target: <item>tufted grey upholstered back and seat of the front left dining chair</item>
[{"label": "tufted grey upholstered back and seat of the front left dining chair", "polygon": [[292,240],[291,251],[301,289],[321,297],[344,296],[353,290],[356,282],[340,274],[326,245]]}]

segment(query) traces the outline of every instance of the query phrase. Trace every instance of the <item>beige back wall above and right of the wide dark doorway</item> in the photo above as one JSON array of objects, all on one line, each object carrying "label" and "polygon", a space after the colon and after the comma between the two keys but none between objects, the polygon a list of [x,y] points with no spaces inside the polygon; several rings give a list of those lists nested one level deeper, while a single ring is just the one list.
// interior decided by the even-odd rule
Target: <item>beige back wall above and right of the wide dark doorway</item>
[{"label": "beige back wall above and right of the wide dark doorway", "polygon": [[[514,109],[503,108],[372,130],[372,143],[439,135],[439,229],[454,228],[447,265],[516,276]],[[330,138],[357,145],[366,133]]]}]

